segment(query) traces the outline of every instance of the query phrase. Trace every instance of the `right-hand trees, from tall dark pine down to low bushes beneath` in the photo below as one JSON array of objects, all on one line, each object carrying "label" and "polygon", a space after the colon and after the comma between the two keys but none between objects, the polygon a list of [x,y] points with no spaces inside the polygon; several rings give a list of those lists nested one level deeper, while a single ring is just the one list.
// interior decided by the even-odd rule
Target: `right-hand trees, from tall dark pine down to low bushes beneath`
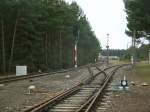
[{"label": "right-hand trees, from tall dark pine down to low bushes beneath", "polygon": [[[135,52],[137,59],[147,60],[150,50],[150,0],[124,1],[128,21],[126,34],[135,38],[135,44],[141,45],[139,48],[132,46],[128,51],[131,55]],[[143,43],[141,38],[149,41],[149,44]]]}]

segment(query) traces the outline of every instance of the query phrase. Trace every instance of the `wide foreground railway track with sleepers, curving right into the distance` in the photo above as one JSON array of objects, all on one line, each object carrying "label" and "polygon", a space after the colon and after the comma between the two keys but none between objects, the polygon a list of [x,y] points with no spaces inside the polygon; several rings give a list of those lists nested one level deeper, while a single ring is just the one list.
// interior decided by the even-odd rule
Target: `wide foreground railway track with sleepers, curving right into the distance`
[{"label": "wide foreground railway track with sleepers, curving right into the distance", "polygon": [[92,112],[93,105],[103,94],[117,69],[122,66],[125,65],[111,66],[103,70],[96,67],[99,73],[93,75],[90,80],[80,83],[24,112]]}]

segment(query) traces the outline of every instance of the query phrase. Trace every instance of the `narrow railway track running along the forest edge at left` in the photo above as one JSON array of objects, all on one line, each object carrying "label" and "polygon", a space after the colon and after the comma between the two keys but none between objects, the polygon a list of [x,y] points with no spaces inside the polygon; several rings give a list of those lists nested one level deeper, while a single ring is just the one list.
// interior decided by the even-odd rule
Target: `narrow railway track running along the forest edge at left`
[{"label": "narrow railway track running along the forest edge at left", "polygon": [[[100,64],[102,64],[102,63],[92,64],[91,66],[96,66],[96,65],[100,65]],[[0,78],[0,84],[14,82],[14,81],[18,81],[18,80],[25,80],[25,79],[30,79],[30,78],[36,78],[36,77],[41,77],[41,76],[46,76],[46,75],[52,75],[52,74],[57,74],[57,73],[70,72],[70,71],[74,71],[74,70],[77,70],[77,69],[86,68],[88,66],[89,65],[84,65],[84,66],[80,66],[78,68],[71,68],[71,69],[61,70],[61,71],[57,71],[57,72],[41,73],[41,74],[35,74],[35,75],[3,77],[3,78]]]}]

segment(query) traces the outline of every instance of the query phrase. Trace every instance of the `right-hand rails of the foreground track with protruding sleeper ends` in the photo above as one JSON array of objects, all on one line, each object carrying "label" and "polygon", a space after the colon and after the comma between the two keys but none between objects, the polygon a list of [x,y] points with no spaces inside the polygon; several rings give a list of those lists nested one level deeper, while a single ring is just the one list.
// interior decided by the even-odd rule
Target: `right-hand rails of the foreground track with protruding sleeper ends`
[{"label": "right-hand rails of the foreground track with protruding sleeper ends", "polygon": [[98,90],[93,100],[89,103],[89,105],[85,105],[80,109],[78,112],[106,112],[105,109],[107,108],[107,101],[109,94],[111,94],[109,91],[106,90],[106,88],[110,84],[110,80],[112,79],[112,76],[115,75],[117,70],[121,67],[124,67],[126,65],[118,66],[115,68],[111,75],[108,76],[102,87]]}]

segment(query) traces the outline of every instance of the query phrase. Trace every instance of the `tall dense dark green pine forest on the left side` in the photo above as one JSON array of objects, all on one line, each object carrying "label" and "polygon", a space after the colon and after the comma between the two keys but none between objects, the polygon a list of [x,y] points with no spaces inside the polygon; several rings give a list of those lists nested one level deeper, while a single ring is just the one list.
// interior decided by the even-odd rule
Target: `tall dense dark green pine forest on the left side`
[{"label": "tall dense dark green pine forest on the left side", "polygon": [[0,73],[73,67],[78,33],[78,65],[94,62],[100,43],[76,2],[0,0]]}]

